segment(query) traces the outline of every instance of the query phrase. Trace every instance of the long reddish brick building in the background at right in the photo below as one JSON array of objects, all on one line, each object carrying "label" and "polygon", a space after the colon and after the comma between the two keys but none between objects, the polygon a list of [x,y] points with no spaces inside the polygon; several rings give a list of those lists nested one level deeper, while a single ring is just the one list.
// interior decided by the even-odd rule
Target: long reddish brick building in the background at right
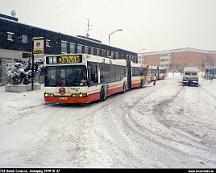
[{"label": "long reddish brick building in the background at right", "polygon": [[139,62],[154,66],[167,67],[169,70],[182,71],[186,66],[203,67],[216,65],[216,51],[194,48],[146,52],[139,56]]}]

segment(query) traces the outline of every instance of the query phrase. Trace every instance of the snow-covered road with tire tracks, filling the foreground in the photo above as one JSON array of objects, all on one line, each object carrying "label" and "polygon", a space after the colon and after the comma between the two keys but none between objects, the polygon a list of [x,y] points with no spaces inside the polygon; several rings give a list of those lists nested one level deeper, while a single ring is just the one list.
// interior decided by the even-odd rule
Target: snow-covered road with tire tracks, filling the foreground
[{"label": "snow-covered road with tire tracks, filling the foreground", "polygon": [[0,87],[0,166],[215,168],[216,81],[180,79],[89,105]]}]

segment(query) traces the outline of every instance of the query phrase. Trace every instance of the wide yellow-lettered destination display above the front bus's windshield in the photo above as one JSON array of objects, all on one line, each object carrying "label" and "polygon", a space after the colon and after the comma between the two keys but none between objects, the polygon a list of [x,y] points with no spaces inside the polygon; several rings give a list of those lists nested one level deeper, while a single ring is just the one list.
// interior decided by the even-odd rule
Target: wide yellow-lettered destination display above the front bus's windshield
[{"label": "wide yellow-lettered destination display above the front bus's windshield", "polygon": [[58,64],[75,64],[82,62],[82,55],[62,55],[58,56]]}]

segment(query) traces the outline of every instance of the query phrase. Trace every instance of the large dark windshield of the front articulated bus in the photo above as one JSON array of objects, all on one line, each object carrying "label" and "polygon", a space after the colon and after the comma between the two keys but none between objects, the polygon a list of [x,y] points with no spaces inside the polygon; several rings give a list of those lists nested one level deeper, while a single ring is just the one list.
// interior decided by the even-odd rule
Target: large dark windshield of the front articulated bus
[{"label": "large dark windshield of the front articulated bus", "polygon": [[45,87],[86,86],[84,65],[50,66],[45,68]]}]

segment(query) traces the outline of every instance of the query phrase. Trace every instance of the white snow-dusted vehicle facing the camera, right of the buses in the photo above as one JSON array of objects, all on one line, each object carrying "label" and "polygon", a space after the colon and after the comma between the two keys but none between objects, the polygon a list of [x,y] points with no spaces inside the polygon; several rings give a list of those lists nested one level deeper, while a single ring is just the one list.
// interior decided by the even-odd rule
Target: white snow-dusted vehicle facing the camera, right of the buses
[{"label": "white snow-dusted vehicle facing the camera, right of the buses", "polygon": [[185,67],[182,84],[199,86],[198,68]]}]

